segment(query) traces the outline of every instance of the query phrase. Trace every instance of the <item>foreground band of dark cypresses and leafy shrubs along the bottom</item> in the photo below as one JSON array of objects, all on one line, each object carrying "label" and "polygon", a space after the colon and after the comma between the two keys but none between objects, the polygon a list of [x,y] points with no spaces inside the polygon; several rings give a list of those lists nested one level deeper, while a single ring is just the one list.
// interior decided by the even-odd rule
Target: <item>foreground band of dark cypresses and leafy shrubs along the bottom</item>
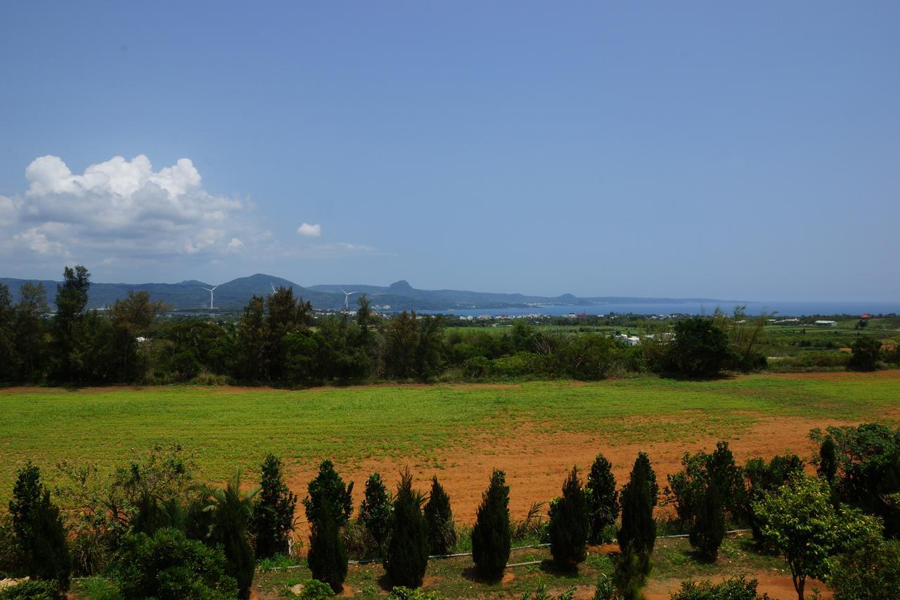
[{"label": "foreground band of dark cypresses and leafy shrubs along the bottom", "polygon": [[[900,430],[863,424],[810,437],[819,445],[815,476],[796,455],[739,466],[719,442],[711,452],[686,454],[662,495],[644,452],[621,488],[598,455],[586,482],[578,468],[564,477],[547,522],[535,518],[536,505],[513,523],[514,490],[494,470],[467,533],[474,567],[486,581],[499,579],[516,541],[549,542],[554,568],[578,569],[589,542],[615,538],[612,577],[601,577],[595,597],[636,598],[653,570],[661,528],[689,532],[696,559],[715,562],[726,526],[749,527],[758,551],[785,560],[801,600],[811,577],[824,579],[839,600],[895,597]],[[57,597],[71,577],[100,574],[117,588],[106,597],[246,598],[257,559],[293,551],[298,498],[275,456],[266,457],[259,486],[250,489],[239,473],[223,488],[196,485],[193,459],[180,447],[154,449],[107,475],[67,463],[58,468],[62,482],[52,494],[39,468],[19,470],[0,522],[0,571],[30,576],[28,589],[45,595],[10,597]],[[425,495],[404,471],[392,494],[374,473],[356,518],[352,491],[325,460],[302,501],[311,529],[307,565],[329,593],[342,588],[348,559],[379,559],[391,585],[405,590],[422,585],[429,559],[456,550],[451,498],[437,477]],[[659,520],[661,499],[673,506],[674,520]],[[673,597],[758,596],[755,583],[740,578],[686,583]]]}]

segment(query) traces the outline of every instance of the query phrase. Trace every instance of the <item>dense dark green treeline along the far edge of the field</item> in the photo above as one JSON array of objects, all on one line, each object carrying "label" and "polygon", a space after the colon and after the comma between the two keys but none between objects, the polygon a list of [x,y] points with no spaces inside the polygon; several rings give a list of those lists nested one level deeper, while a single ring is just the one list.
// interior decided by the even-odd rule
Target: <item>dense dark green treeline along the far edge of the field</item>
[{"label": "dense dark green treeline along the far edge of the field", "polygon": [[[27,283],[12,304],[0,285],[0,382],[268,383],[309,386],[373,380],[599,379],[652,371],[712,377],[766,366],[764,315],[685,318],[627,345],[598,332],[557,332],[517,321],[509,331],[445,328],[444,317],[401,313],[383,319],[368,298],[355,314],[313,314],[280,287],[254,296],[235,322],[161,318],[166,306],[130,292],[88,311],[90,274],[66,268],[49,314],[48,290]],[[848,368],[900,361],[878,340],[855,341]]]}]

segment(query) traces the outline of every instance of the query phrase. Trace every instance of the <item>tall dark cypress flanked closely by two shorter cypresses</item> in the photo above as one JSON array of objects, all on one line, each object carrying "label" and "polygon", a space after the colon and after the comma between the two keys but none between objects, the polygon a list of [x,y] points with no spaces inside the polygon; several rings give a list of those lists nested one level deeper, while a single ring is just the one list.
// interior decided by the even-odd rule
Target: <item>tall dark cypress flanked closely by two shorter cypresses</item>
[{"label": "tall dark cypress flanked closely by two shorter cypresses", "polygon": [[394,499],[391,540],[388,542],[384,568],[394,586],[419,587],[428,568],[428,525],[422,514],[425,498],[412,489],[412,475],[407,468],[401,473]]}]

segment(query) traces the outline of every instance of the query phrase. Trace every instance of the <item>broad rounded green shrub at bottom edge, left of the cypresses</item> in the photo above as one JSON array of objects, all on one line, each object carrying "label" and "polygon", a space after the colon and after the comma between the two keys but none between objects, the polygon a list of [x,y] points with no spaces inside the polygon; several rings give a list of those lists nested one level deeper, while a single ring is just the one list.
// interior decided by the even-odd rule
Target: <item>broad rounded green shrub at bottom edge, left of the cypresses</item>
[{"label": "broad rounded green shrub at bottom edge, left of the cypresses", "polygon": [[130,533],[122,540],[116,578],[121,594],[159,600],[225,600],[238,595],[238,584],[226,573],[221,550],[188,540],[175,529],[152,537]]}]

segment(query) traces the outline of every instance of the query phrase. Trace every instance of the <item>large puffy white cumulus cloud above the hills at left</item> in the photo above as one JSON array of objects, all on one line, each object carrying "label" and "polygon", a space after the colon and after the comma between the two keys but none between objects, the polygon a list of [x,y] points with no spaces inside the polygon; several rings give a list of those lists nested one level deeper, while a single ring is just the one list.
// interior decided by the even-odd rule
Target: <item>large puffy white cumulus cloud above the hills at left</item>
[{"label": "large puffy white cumulus cloud above the hills at left", "polygon": [[205,191],[190,159],[154,170],[142,154],[117,156],[76,174],[42,156],[25,177],[23,195],[0,196],[0,255],[213,258],[266,234],[248,220],[246,203]]}]

